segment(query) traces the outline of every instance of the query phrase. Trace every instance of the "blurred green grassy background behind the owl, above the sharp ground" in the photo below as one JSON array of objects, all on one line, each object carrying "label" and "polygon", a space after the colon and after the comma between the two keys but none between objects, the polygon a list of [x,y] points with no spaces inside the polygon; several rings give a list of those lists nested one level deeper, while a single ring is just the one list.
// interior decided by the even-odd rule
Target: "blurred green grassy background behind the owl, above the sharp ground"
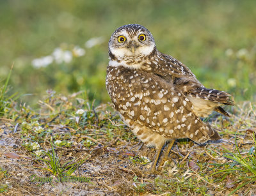
[{"label": "blurred green grassy background behind the owl, above the sharp ground", "polygon": [[10,86],[22,102],[35,103],[47,89],[108,102],[108,40],[134,23],[206,87],[256,100],[255,0],[0,1],[0,81],[14,62]]}]

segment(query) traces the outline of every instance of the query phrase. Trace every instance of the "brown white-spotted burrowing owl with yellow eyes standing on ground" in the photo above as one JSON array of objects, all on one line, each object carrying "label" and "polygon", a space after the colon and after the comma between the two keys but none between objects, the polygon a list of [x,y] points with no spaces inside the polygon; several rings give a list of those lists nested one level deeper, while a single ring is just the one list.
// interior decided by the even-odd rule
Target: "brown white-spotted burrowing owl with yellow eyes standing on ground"
[{"label": "brown white-spotted burrowing owl with yellow eyes standing on ground", "polygon": [[220,139],[201,121],[212,110],[225,116],[221,105],[234,105],[230,94],[205,88],[184,64],[156,49],[152,34],[129,24],[116,29],[109,40],[106,87],[115,109],[147,146],[156,147],[151,172],[156,170],[163,145],[189,138],[198,144]]}]

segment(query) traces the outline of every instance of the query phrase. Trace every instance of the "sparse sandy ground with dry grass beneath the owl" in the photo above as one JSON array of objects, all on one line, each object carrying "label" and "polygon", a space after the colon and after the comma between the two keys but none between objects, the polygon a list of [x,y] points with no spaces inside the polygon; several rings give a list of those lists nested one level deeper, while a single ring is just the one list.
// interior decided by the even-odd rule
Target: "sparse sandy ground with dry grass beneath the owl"
[{"label": "sparse sandy ground with dry grass beneath the owl", "polygon": [[[49,92],[38,101],[38,109],[8,104],[0,124],[2,194],[256,194],[256,114],[252,103],[228,108],[230,118],[214,113],[204,119],[220,130],[221,140],[203,145],[176,140],[161,172],[146,174],[155,150],[140,143],[111,105],[94,107],[82,95]],[[74,172],[68,173],[72,168],[68,167],[54,173],[58,168],[47,166],[54,157],[60,158],[55,165],[61,169],[68,161],[74,163]],[[57,182],[63,174],[88,181]],[[53,180],[35,182],[35,176]]]}]

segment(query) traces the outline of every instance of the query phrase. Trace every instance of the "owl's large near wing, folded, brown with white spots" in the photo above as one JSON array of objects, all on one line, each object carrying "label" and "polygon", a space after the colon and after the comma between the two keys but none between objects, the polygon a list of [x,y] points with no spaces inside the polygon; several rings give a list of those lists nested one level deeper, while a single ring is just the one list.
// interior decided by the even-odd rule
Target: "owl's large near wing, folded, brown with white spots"
[{"label": "owl's large near wing, folded, brown with white spots", "polygon": [[119,74],[112,87],[112,100],[125,118],[169,138],[204,143],[218,135],[195,116],[191,102],[173,84],[140,70],[120,67]]}]

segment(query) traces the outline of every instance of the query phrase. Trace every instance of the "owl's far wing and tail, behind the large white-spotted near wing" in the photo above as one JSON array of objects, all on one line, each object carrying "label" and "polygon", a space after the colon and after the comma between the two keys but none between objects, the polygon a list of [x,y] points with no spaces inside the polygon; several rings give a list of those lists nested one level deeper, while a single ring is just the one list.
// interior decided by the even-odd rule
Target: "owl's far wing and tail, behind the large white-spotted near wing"
[{"label": "owl's far wing and tail, behind the large white-spotted near wing", "polygon": [[[205,117],[212,110],[228,116],[227,112],[220,108],[220,105],[234,105],[234,100],[230,94],[224,91],[205,88],[189,68],[171,56],[157,52],[157,61],[157,65],[152,66],[152,73],[166,80],[166,82],[172,83],[177,89],[180,89],[195,105],[196,111],[200,110],[198,105],[202,106],[206,104],[205,107],[207,107],[207,110],[205,112],[196,112],[198,116]],[[201,102],[201,99],[207,102],[198,104],[198,102]]]}]

